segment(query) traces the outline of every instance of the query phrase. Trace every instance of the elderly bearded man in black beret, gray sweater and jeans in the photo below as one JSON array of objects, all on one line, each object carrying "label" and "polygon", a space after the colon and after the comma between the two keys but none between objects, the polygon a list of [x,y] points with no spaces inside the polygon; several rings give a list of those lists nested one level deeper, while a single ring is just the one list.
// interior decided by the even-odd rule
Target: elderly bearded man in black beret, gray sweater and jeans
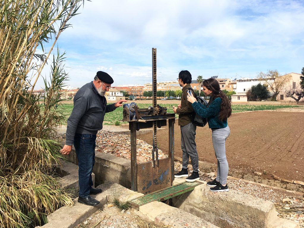
[{"label": "elderly bearded man in black beret, gray sweater and jeans", "polygon": [[119,100],[107,105],[104,95],[113,83],[111,76],[103,71],[98,71],[94,81],[82,86],[74,97],[74,108],[67,119],[66,143],[61,154],[67,155],[74,144],[78,157],[79,197],[78,202],[90,206],[99,205],[99,201],[92,198],[102,192],[101,189],[92,188],[92,171],[95,164],[96,134],[102,129],[102,122],[106,112],[112,112],[122,106]]}]

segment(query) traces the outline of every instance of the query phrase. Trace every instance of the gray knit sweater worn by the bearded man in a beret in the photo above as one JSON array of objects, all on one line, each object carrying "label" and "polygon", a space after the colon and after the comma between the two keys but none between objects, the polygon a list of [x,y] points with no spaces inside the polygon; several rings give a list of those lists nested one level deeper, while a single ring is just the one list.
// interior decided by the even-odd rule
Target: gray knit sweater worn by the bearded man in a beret
[{"label": "gray knit sweater worn by the bearded man in a beret", "polygon": [[[102,109],[102,102],[105,110]],[[74,97],[74,108],[67,119],[66,145],[74,142],[75,133],[93,134],[102,129],[106,112],[114,111],[115,104],[106,105],[107,100],[94,92],[92,81],[82,86]]]}]

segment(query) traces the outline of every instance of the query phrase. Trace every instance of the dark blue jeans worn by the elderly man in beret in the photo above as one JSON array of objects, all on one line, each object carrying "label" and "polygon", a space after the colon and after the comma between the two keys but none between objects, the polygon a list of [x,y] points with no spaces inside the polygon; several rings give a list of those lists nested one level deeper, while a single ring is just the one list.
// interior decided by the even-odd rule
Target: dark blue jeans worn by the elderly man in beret
[{"label": "dark blue jeans worn by the elderly man in beret", "polygon": [[96,135],[75,134],[74,147],[78,157],[79,196],[90,195],[93,186],[92,171],[95,165]]}]

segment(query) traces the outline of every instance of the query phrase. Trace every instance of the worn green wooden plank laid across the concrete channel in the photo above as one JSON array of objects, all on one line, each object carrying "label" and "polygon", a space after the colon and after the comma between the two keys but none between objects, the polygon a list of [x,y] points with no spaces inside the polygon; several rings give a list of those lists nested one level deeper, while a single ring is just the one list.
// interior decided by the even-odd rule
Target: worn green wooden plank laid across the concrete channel
[{"label": "worn green wooden plank laid across the concrete channel", "polygon": [[135,209],[139,209],[140,206],[153,201],[164,201],[171,199],[174,196],[184,194],[185,192],[190,192],[195,188],[195,186],[201,184],[202,183],[199,182],[183,182],[181,184],[164,188],[162,190],[133,199],[131,200],[131,206]]}]

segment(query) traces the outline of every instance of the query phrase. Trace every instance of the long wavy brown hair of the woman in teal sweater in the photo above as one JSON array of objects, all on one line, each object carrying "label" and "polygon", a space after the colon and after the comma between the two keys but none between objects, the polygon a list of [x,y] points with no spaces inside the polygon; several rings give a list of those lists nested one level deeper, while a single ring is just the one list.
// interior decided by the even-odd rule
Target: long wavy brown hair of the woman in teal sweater
[{"label": "long wavy brown hair of the woman in teal sweater", "polygon": [[222,99],[221,110],[219,111],[219,120],[227,120],[228,117],[231,116],[232,112],[231,103],[226,94],[220,89],[219,82],[214,78],[208,78],[203,81],[203,86],[212,91],[211,96],[213,96],[214,99],[218,97]]}]

